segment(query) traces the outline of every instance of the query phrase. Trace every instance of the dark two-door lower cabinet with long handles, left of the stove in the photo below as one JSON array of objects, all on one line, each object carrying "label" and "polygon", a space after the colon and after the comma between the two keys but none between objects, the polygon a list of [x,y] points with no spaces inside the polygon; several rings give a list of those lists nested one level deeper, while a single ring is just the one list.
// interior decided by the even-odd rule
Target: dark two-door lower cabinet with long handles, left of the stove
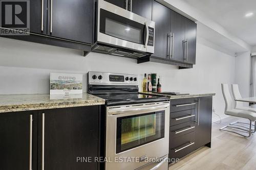
[{"label": "dark two-door lower cabinet with long handles, left of the stove", "polygon": [[97,170],[99,121],[99,106],[0,113],[0,169],[30,169],[32,134],[33,170]]}]

